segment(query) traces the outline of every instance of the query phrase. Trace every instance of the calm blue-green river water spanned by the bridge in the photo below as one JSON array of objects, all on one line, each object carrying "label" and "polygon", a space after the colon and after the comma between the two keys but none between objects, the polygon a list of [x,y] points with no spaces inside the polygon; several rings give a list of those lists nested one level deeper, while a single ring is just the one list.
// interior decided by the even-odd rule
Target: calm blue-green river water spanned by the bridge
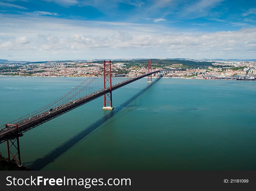
[{"label": "calm blue-green river water spanned by the bridge", "polygon": [[[0,77],[0,125],[82,80]],[[113,111],[101,110],[100,97],[24,133],[22,163],[37,170],[256,170],[255,100],[256,81],[144,78],[113,91]],[[6,156],[5,143],[0,151]]]}]

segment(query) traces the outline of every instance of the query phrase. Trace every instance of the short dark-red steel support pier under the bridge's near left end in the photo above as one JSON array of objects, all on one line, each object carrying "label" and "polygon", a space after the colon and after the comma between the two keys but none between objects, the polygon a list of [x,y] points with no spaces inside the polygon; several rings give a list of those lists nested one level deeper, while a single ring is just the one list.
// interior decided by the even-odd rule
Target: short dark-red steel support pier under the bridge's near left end
[{"label": "short dark-red steel support pier under the bridge's near left end", "polygon": [[[5,128],[8,128],[8,125],[11,125],[11,126],[14,126],[16,128],[16,130],[18,129],[18,125],[13,125],[13,124],[5,124]],[[21,160],[20,160],[20,150],[19,150],[19,133],[18,131],[16,131],[15,133],[15,137],[14,139],[12,140],[13,138],[11,139],[8,139],[6,141],[6,146],[7,146],[7,157],[8,157],[8,161],[10,162],[11,160],[15,159],[15,161],[18,163],[19,166],[22,166],[21,164]],[[10,143],[9,144],[9,140],[10,140]],[[16,141],[16,145],[15,145],[15,141]],[[10,151],[10,148],[13,146],[13,148],[15,148],[17,150],[16,153],[12,153]],[[12,155],[12,159],[11,159],[11,155]],[[17,155],[18,155],[18,158],[17,158]]]}]

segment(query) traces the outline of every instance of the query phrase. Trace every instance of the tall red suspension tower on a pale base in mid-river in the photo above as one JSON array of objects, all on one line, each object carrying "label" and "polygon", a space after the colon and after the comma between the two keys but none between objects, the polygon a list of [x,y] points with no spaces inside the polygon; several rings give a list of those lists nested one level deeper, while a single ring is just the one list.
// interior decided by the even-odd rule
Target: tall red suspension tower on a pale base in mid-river
[{"label": "tall red suspension tower on a pale base in mid-river", "polygon": [[[103,110],[113,110],[112,107],[112,84],[111,84],[111,61],[104,60],[104,89],[108,88],[109,92],[104,94],[104,107]],[[109,105],[109,106],[107,106]]]}]

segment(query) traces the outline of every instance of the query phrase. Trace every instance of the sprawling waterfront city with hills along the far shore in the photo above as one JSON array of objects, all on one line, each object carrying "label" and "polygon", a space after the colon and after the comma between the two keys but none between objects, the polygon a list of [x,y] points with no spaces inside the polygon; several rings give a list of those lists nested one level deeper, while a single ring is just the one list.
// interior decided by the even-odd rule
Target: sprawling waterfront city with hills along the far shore
[{"label": "sprawling waterfront city with hills along the far shore", "polygon": [[[114,77],[136,77],[147,72],[146,60],[114,61]],[[163,61],[167,61],[162,64]],[[182,62],[186,61],[185,64]],[[18,62],[8,61],[0,63],[0,76],[32,76],[32,77],[86,77],[103,76],[96,71],[103,61],[44,61]],[[198,60],[198,67],[191,59],[154,59],[152,70],[183,69],[171,71],[164,77],[188,79],[235,79],[237,77],[255,77],[256,61],[216,61]],[[202,64],[201,64],[202,63]],[[207,63],[207,64],[205,64]],[[207,66],[204,66],[207,65]],[[156,76],[157,74],[154,74]]]}]

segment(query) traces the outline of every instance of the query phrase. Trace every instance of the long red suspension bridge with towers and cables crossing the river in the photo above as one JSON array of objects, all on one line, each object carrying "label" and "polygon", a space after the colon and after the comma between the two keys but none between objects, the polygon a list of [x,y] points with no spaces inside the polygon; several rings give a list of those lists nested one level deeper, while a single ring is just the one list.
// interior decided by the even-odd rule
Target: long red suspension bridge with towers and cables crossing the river
[{"label": "long red suspension bridge with towers and cables crossing the river", "polygon": [[[101,96],[104,96],[104,105],[102,109],[113,110],[113,90],[144,77],[147,77],[148,83],[152,83],[152,74],[170,71],[152,71],[152,61],[147,61],[145,74],[141,74],[133,78],[114,77],[114,73],[117,73],[119,70],[120,69],[118,69],[111,61],[103,61],[103,63],[99,64],[89,77],[87,77],[77,87],[73,88],[70,92],[67,92],[59,99],[38,110],[0,127],[0,143],[6,142],[8,160],[15,160],[19,166],[22,165],[19,137],[22,137],[24,132]],[[103,77],[95,80],[99,76]]]}]

